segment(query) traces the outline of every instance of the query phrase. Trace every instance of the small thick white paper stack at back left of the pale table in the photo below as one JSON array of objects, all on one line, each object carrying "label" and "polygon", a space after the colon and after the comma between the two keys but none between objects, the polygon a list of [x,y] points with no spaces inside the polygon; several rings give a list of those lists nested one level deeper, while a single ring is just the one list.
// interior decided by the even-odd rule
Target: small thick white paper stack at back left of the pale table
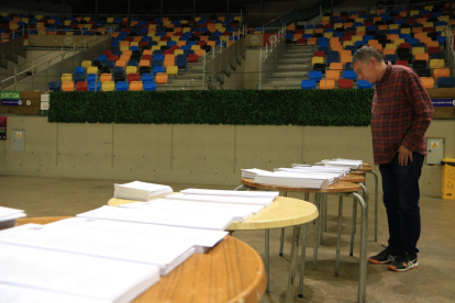
[{"label": "small thick white paper stack at back left of the pale table", "polygon": [[114,184],[114,197],[130,200],[148,201],[173,193],[168,186],[134,181],[125,184]]}]

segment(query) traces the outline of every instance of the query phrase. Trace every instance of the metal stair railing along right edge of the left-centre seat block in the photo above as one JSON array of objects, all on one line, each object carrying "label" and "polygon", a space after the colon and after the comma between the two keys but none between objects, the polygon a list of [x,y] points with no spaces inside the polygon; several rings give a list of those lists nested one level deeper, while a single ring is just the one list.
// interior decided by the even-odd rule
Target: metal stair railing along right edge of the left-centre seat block
[{"label": "metal stair railing along right edge of the left-centre seat block", "polygon": [[[242,30],[244,32],[244,29]],[[235,35],[233,33],[232,38]],[[203,88],[215,90],[218,83],[224,83],[224,75],[231,76],[231,69],[236,69],[237,64],[242,64],[242,57],[245,58],[244,38],[241,36],[241,30],[237,31],[238,40],[232,45],[225,45],[221,42],[219,46],[213,47],[211,54],[204,56],[203,61]],[[218,55],[217,55],[218,53]],[[211,56],[210,60],[206,57]]]}]

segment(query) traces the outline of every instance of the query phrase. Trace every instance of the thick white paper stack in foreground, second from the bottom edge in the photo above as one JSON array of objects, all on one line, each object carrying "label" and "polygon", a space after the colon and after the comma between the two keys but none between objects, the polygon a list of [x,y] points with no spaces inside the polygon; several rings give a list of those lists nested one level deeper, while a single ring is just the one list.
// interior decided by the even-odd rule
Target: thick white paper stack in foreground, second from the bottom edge
[{"label": "thick white paper stack in foreground, second from the bottom edge", "polygon": [[79,302],[130,302],[159,280],[153,265],[2,243],[0,268],[0,283],[79,296]]}]

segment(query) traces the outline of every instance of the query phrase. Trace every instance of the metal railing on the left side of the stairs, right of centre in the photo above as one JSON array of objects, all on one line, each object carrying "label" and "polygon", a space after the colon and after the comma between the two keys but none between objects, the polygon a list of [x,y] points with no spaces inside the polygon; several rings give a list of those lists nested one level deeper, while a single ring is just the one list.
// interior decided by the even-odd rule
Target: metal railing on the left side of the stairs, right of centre
[{"label": "metal railing on the left side of the stairs, right of centre", "polygon": [[265,54],[263,55],[263,47],[259,52],[259,83],[257,89],[262,89],[263,83],[267,83],[267,78],[271,76],[274,69],[279,63],[279,59],[285,53],[286,45],[286,27],[276,34],[275,43],[270,44],[270,47],[266,44]]}]

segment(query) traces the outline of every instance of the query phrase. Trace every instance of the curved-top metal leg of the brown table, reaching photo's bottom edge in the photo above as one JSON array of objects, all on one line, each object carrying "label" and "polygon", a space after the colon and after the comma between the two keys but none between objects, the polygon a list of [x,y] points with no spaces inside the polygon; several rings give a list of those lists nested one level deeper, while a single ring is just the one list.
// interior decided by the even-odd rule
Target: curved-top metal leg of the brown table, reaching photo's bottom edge
[{"label": "curved-top metal leg of the brown table, reaching photo's bottom edge", "polygon": [[357,302],[364,303],[366,301],[366,273],[367,273],[367,239],[368,239],[368,204],[356,192],[348,197],[354,198],[362,207],[362,224],[360,224],[360,256],[359,256],[359,274],[358,274],[358,291]]}]

